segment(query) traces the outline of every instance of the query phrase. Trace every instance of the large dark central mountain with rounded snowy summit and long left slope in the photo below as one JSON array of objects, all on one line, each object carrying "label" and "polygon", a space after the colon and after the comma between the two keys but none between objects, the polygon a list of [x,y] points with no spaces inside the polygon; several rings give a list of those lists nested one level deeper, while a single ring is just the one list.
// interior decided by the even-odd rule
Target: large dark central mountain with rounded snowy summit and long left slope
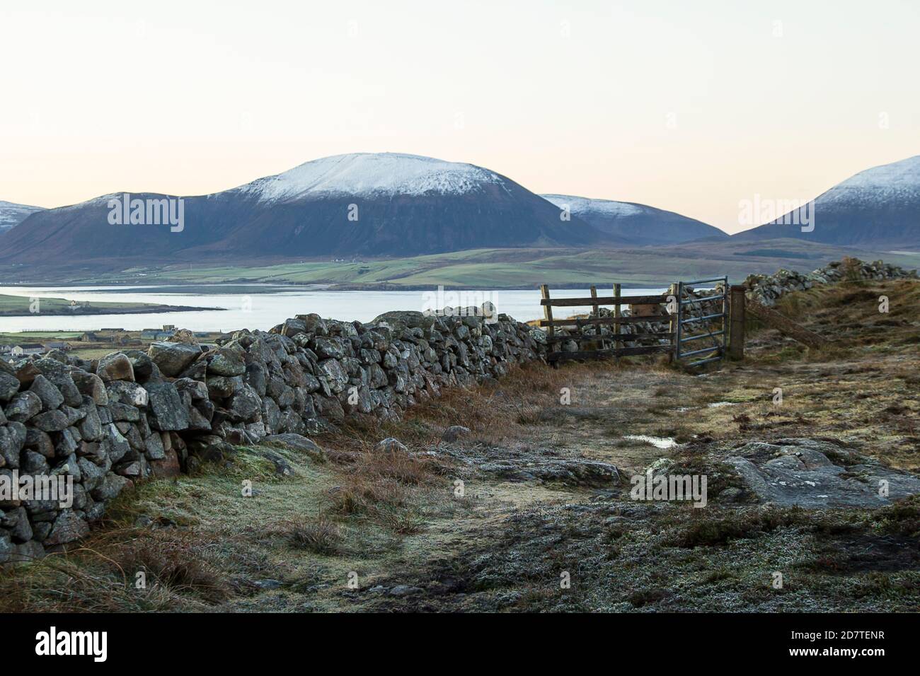
[{"label": "large dark central mountain with rounded snowy summit and long left slope", "polygon": [[[162,199],[144,193],[132,199]],[[415,256],[480,247],[616,243],[489,169],[400,154],[336,155],[184,198],[185,225],[112,225],[115,193],[33,214],[0,260]]]}]

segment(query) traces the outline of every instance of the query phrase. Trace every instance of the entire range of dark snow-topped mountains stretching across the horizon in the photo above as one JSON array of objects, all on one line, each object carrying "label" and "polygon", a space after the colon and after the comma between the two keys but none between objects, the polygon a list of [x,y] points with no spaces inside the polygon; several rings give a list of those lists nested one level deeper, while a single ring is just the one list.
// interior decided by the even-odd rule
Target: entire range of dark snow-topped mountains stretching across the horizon
[{"label": "entire range of dark snow-topped mountains stretching across the horizon", "polygon": [[[51,210],[0,202],[0,217],[6,214],[0,263],[40,268],[76,261],[124,269],[144,262],[408,258],[475,248],[673,246],[728,237],[647,205],[539,196],[486,167],[396,153],[324,157],[183,198],[178,229],[109,223],[109,200],[122,197]],[[819,196],[814,207],[811,233],[775,222],[732,240],[920,246],[920,156],[860,172]]]}]

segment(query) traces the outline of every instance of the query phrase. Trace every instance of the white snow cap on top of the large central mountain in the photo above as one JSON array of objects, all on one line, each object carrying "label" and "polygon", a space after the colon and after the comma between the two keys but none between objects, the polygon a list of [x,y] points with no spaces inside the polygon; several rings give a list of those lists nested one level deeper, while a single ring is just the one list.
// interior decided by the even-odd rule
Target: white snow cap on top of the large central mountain
[{"label": "white snow cap on top of the large central mountain", "polygon": [[481,166],[420,155],[354,153],[306,162],[238,189],[257,193],[263,201],[289,201],[324,195],[464,195],[485,184],[503,182],[498,174]]}]

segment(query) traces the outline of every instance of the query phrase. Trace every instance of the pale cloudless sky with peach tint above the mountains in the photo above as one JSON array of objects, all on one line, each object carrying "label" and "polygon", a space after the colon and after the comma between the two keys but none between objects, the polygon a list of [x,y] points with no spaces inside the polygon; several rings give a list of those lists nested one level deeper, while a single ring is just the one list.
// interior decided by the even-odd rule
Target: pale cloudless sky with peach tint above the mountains
[{"label": "pale cloudless sky with peach tint above the mountains", "polygon": [[920,155],[918,29],[912,0],[0,0],[0,200],[389,151],[737,232]]}]

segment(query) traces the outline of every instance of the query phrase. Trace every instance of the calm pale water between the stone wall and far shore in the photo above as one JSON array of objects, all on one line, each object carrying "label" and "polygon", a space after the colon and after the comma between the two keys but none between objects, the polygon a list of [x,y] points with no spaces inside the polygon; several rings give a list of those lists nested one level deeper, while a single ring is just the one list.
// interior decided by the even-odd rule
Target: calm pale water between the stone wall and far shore
[{"label": "calm pale water between the stone wall and far shore", "polygon": [[[626,295],[663,293],[664,289],[628,289]],[[390,310],[423,311],[427,307],[481,304],[489,300],[499,312],[512,315],[519,321],[529,321],[543,316],[540,292],[523,291],[455,292],[460,298],[436,290],[421,291],[326,291],[304,287],[276,285],[196,285],[194,287],[4,287],[0,294],[65,298],[75,301],[120,303],[154,303],[193,305],[222,308],[209,312],[175,312],[147,315],[83,315],[0,317],[0,331],[89,331],[101,327],[121,327],[127,330],[155,328],[164,324],[192,331],[232,331],[239,328],[267,330],[293,315],[316,313],[324,317],[368,322]],[[466,297],[463,294],[466,293]],[[599,290],[600,295],[611,290]],[[587,290],[568,289],[553,291],[554,298],[576,298],[590,295]],[[459,301],[459,302],[458,302]],[[585,312],[588,308],[559,308],[559,316]],[[565,313],[562,315],[561,313]]]}]

